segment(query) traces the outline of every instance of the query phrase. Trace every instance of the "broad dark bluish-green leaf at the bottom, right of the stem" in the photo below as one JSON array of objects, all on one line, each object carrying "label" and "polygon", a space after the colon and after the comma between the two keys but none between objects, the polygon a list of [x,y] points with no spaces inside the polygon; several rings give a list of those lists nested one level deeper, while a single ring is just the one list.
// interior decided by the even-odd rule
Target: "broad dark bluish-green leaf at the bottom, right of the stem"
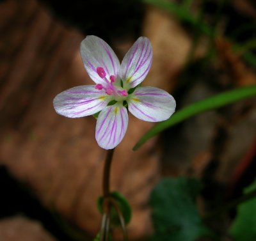
[{"label": "broad dark bluish-green leaf at the bottom, right of the stem", "polygon": [[192,178],[164,178],[150,196],[153,240],[193,241],[209,236],[196,208],[201,183]]}]

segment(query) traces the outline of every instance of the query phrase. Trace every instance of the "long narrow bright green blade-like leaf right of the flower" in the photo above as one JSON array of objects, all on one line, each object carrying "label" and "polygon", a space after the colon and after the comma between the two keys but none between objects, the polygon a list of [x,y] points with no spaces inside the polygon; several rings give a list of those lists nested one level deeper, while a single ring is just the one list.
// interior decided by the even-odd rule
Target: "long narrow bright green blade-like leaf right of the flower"
[{"label": "long narrow bright green blade-like leaf right of the flower", "polygon": [[136,143],[133,150],[138,150],[143,143],[145,143],[151,137],[156,136],[156,134],[159,132],[192,116],[195,116],[196,114],[200,114],[211,109],[216,109],[224,105],[237,102],[238,100],[243,100],[244,98],[253,96],[256,96],[256,85],[226,91],[219,95],[215,95],[214,97],[206,98],[190,104],[180,111],[174,113],[168,120],[158,123],[151,128],[144,136],[141,137],[138,143]]}]

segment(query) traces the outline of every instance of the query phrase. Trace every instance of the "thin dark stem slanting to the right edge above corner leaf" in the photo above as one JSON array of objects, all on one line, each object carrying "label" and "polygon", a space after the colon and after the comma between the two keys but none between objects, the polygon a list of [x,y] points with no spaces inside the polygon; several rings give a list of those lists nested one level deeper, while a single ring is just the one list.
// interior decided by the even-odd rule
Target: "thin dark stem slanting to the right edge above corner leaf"
[{"label": "thin dark stem slanting to the right edge above corner leaf", "polygon": [[256,197],[256,190],[254,190],[253,192],[248,192],[248,193],[244,194],[243,196],[241,196],[240,198],[237,198],[234,201],[231,201],[230,203],[222,205],[222,206],[216,208],[215,210],[213,210],[212,212],[205,214],[203,219],[204,220],[211,219],[212,217],[218,216],[218,215],[222,214],[223,212],[227,212],[231,208],[234,208],[237,205],[239,205],[245,201],[248,201],[249,199],[255,198],[255,197]]}]

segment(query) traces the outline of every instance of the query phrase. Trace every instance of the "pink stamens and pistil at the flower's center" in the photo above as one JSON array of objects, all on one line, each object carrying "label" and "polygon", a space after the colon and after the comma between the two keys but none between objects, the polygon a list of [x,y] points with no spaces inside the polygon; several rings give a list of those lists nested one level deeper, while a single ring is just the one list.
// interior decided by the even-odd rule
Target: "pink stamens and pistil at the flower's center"
[{"label": "pink stamens and pistil at the flower's center", "polygon": [[104,68],[97,67],[97,74],[101,79],[104,79],[104,84],[96,84],[95,89],[101,90],[104,89],[105,93],[107,95],[113,95],[116,100],[120,100],[120,97],[127,97],[128,93],[126,89],[123,89],[121,86],[118,88],[117,86],[114,86],[113,83],[116,81],[116,77],[114,75],[109,76],[109,80],[106,78],[106,72]]}]

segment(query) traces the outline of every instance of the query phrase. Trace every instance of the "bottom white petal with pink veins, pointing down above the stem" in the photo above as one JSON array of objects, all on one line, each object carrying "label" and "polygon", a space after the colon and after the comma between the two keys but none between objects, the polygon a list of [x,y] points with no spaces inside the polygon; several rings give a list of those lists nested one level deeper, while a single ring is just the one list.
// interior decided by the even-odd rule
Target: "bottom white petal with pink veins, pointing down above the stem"
[{"label": "bottom white petal with pink veins, pointing down above the stem", "polygon": [[100,147],[115,148],[124,138],[128,125],[128,113],[124,106],[109,105],[97,119],[95,137]]}]

